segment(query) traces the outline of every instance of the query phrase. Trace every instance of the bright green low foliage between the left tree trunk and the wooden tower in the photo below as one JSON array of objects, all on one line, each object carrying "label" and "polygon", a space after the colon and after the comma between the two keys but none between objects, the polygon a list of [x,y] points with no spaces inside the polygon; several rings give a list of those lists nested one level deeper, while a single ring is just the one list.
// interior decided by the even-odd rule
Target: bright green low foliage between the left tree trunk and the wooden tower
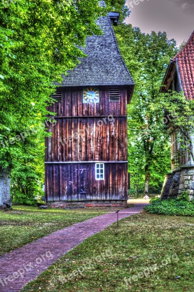
[{"label": "bright green low foliage between the left tree trunk and the wooden tower", "polygon": [[27,137],[24,147],[13,160],[11,197],[13,203],[35,205],[44,196],[44,133]]}]

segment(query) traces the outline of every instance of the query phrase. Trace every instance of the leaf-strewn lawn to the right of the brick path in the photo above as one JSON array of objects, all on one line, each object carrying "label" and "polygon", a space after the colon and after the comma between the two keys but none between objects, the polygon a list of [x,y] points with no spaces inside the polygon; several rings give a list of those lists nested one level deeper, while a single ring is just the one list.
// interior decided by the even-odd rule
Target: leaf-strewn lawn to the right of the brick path
[{"label": "leaf-strewn lawn to the right of the brick path", "polygon": [[[108,249],[112,256],[97,262],[96,256]],[[82,271],[88,259],[93,266],[68,280],[67,274]],[[143,212],[121,220],[119,228],[114,223],[89,237],[22,292],[193,292],[193,267],[194,218]],[[131,276],[136,281],[128,280],[127,286],[124,278]]]}]

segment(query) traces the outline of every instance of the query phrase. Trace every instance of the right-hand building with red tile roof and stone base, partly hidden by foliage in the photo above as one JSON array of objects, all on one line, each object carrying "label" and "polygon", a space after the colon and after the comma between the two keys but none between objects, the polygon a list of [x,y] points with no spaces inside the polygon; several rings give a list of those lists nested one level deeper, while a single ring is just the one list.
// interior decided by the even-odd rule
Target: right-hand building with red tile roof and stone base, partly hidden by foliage
[{"label": "right-hand building with red tile roof and stone base, partly hidden by foliage", "polygon": [[[194,32],[181,51],[170,61],[162,82],[162,92],[183,91],[185,98],[194,99]],[[162,198],[176,197],[181,191],[194,194],[194,161],[190,144],[185,140],[182,147],[181,133],[172,131],[171,161],[172,173],[166,176]]]}]

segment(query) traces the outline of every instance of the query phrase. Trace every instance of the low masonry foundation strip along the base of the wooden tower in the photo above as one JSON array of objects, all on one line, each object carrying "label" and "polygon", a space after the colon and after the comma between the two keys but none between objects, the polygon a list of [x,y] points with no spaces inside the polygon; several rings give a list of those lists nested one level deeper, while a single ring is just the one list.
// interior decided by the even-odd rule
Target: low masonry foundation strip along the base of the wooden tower
[{"label": "low masonry foundation strip along the base of the wooden tower", "polygon": [[85,208],[85,207],[127,207],[127,201],[56,201],[51,203],[52,208]]}]

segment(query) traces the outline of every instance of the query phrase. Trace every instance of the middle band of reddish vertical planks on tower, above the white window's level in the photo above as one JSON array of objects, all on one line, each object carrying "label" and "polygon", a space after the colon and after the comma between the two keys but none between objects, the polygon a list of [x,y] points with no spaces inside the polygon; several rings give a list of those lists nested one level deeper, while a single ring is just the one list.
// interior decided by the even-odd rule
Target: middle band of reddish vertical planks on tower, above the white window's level
[{"label": "middle band of reddish vertical planks on tower, above the white window's level", "polygon": [[46,162],[127,161],[126,118],[110,120],[58,118],[49,126]]}]

